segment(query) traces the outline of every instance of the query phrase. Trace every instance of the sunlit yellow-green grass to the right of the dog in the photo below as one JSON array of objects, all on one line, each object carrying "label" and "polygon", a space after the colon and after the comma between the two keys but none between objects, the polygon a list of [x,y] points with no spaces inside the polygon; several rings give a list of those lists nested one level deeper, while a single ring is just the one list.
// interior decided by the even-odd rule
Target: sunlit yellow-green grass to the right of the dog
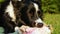
[{"label": "sunlit yellow-green grass to the right of the dog", "polygon": [[60,14],[44,14],[44,22],[51,24],[53,27],[53,34],[60,34]]}]

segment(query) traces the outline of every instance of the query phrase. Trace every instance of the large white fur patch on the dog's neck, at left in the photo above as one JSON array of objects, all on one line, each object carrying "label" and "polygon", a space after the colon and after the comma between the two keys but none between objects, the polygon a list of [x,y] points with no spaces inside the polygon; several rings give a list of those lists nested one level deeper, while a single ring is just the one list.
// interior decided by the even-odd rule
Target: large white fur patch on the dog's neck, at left
[{"label": "large white fur patch on the dog's neck, at left", "polygon": [[16,20],[13,5],[12,5],[11,1],[10,1],[9,5],[7,6],[7,9],[5,10],[5,12],[9,14],[9,16],[12,18],[12,21]]}]

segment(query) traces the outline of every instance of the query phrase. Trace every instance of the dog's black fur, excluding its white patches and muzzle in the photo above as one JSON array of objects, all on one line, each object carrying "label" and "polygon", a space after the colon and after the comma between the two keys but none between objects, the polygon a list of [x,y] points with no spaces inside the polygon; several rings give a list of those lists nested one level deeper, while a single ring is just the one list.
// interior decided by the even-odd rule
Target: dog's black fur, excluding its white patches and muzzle
[{"label": "dog's black fur, excluding its white patches and muzzle", "polygon": [[[16,15],[16,21],[11,21],[11,17],[8,15],[8,13],[4,13],[6,10],[6,7],[9,5],[9,2],[12,2],[12,5],[14,7],[14,13]],[[1,12],[0,12],[0,26],[4,27],[5,33],[12,33],[14,32],[15,26],[22,26],[22,25],[28,25],[33,26],[32,22],[37,19],[37,16],[35,14],[36,10],[34,8],[33,3],[37,3],[39,7],[40,2],[34,1],[34,0],[22,0],[22,1],[14,1],[14,0],[6,0],[4,3],[1,4]],[[42,12],[41,8],[38,11],[39,17],[42,19]],[[15,24],[16,23],[16,24]]]}]

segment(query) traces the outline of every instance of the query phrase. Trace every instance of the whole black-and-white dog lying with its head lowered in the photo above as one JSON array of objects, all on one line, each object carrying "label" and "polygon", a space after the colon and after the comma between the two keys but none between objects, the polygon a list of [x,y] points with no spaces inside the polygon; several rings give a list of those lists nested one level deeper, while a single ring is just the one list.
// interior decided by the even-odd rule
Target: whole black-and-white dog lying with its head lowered
[{"label": "whole black-and-white dog lying with its head lowered", "polygon": [[6,0],[2,3],[0,26],[4,28],[5,34],[14,32],[16,26],[43,26],[39,2],[26,1],[27,0]]}]

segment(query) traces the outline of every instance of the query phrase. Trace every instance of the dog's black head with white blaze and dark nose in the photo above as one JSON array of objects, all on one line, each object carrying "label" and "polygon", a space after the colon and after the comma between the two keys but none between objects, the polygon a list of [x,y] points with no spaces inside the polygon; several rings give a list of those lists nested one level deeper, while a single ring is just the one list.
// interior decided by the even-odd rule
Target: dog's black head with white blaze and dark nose
[{"label": "dog's black head with white blaze and dark nose", "polygon": [[28,26],[37,26],[42,27],[42,11],[39,8],[39,5],[34,2],[19,4],[20,18]]}]

